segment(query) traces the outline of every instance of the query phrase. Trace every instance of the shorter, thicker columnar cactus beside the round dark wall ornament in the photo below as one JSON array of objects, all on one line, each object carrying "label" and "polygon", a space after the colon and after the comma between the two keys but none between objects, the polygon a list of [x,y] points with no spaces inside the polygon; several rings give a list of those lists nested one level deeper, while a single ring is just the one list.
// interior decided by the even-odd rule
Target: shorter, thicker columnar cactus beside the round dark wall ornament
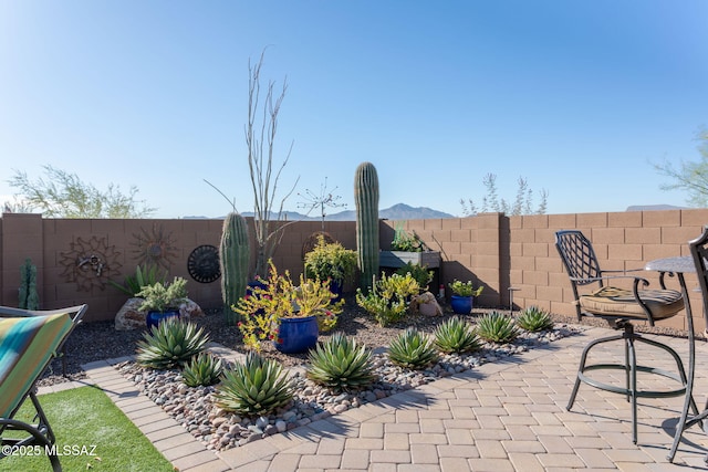
[{"label": "shorter, thicker columnar cactus beside the round dark wall ornament", "polygon": [[223,230],[219,244],[223,314],[228,323],[232,325],[237,323],[238,315],[231,310],[231,305],[246,295],[250,255],[251,250],[246,218],[232,211],[223,220]]}]

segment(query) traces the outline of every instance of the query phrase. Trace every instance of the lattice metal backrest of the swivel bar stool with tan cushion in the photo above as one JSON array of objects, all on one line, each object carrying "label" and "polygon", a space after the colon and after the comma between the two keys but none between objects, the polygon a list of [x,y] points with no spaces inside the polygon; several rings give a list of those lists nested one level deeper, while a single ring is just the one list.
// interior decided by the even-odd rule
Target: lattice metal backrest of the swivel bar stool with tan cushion
[{"label": "lattice metal backrest of the swivel bar stool with tan cushion", "polygon": [[[555,248],[565,265],[573,285],[587,285],[597,282],[602,275],[593,245],[577,230],[563,230],[555,233]],[[602,281],[600,281],[602,285]]]}]

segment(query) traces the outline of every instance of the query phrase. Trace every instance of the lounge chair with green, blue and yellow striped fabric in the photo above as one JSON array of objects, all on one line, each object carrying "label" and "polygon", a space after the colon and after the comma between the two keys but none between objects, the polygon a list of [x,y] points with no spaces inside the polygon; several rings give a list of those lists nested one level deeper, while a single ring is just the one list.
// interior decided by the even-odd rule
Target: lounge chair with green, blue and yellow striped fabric
[{"label": "lounge chair with green, blue and yellow striped fabric", "polygon": [[[61,471],[53,447],[56,439],[38,400],[35,384],[81,323],[86,308],[80,305],[29,312],[0,307],[0,460],[12,454],[12,447],[39,447],[52,470]],[[34,408],[32,424],[15,419],[28,398]]]}]

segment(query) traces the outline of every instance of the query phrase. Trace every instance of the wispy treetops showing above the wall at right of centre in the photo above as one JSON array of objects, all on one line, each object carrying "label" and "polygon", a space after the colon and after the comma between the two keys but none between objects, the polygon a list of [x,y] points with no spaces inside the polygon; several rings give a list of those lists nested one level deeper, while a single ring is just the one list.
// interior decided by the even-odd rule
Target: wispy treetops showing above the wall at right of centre
[{"label": "wispy treetops showing above the wall at right of centre", "polygon": [[494,174],[487,174],[482,182],[487,188],[487,195],[482,198],[479,211],[477,209],[477,204],[471,198],[467,201],[465,201],[465,199],[460,199],[462,214],[466,217],[475,216],[478,212],[485,213],[487,211],[497,211],[514,217],[519,214],[544,214],[546,211],[549,197],[548,191],[544,189],[540,191],[541,201],[539,202],[539,206],[533,209],[533,190],[529,188],[529,182],[522,177],[519,177],[519,187],[517,189],[517,197],[513,200],[513,203],[508,202],[503,198],[499,199],[499,196],[497,195],[497,176]]}]

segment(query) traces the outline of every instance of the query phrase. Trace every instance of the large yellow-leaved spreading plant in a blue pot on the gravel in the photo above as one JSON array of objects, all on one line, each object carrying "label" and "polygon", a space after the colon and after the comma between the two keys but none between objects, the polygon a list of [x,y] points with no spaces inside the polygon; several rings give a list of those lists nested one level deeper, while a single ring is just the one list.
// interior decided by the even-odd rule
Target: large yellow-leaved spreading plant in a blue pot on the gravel
[{"label": "large yellow-leaved spreading plant in a blue pot on the gravel", "polygon": [[270,276],[263,286],[239,300],[233,311],[241,315],[238,323],[247,348],[260,352],[262,340],[273,342],[281,353],[303,353],[317,343],[320,332],[336,324],[344,301],[330,290],[330,281],[305,280],[300,284],[290,279],[290,272],[278,273],[270,262]]}]

